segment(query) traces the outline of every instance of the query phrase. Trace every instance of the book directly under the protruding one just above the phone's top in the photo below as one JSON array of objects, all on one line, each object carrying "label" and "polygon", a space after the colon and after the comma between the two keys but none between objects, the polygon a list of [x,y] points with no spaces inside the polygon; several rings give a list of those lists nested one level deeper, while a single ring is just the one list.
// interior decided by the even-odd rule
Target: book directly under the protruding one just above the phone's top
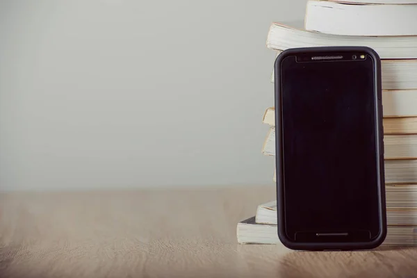
[{"label": "book directly under the protruding one just above the phone's top", "polygon": [[[275,82],[272,70],[271,82]],[[417,89],[417,59],[382,60],[382,90],[414,90]]]}]

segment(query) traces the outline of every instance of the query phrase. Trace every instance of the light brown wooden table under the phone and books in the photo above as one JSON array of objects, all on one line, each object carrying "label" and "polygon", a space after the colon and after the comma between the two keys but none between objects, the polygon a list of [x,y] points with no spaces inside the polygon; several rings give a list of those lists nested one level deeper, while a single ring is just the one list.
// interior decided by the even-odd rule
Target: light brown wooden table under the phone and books
[{"label": "light brown wooden table under the phone and books", "polygon": [[417,249],[239,245],[271,187],[2,193],[0,277],[417,277]]}]

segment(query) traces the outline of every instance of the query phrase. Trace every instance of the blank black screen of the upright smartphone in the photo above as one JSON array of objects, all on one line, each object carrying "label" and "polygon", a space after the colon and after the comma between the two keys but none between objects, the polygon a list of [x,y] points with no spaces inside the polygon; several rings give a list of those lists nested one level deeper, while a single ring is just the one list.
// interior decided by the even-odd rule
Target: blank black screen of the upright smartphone
[{"label": "blank black screen of the upright smartphone", "polygon": [[370,56],[309,63],[289,56],[282,61],[284,215],[289,238],[347,232],[350,238],[370,240],[379,233],[374,83]]}]

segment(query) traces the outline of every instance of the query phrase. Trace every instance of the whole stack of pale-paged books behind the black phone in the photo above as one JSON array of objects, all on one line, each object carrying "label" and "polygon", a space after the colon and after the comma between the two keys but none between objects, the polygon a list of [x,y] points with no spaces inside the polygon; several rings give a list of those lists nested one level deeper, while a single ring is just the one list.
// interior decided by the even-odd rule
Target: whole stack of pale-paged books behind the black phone
[{"label": "whole stack of pale-paged books behind the black phone", "polygon": [[[417,0],[348,2],[309,0],[304,23],[270,26],[267,47],[277,55],[294,47],[367,46],[377,51],[384,111],[384,245],[417,245]],[[263,123],[270,129],[262,152],[275,156],[274,107],[265,111]],[[275,198],[239,222],[237,234],[239,243],[279,243]]]}]

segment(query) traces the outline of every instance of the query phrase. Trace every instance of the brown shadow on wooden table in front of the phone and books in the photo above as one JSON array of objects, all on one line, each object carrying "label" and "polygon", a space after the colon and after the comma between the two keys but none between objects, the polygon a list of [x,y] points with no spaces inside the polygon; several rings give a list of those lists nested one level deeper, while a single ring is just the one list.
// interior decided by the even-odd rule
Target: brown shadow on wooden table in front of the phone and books
[{"label": "brown shadow on wooden table in front of the phone and books", "polygon": [[277,277],[417,278],[417,248],[379,247],[359,252],[290,252],[279,260]]}]

